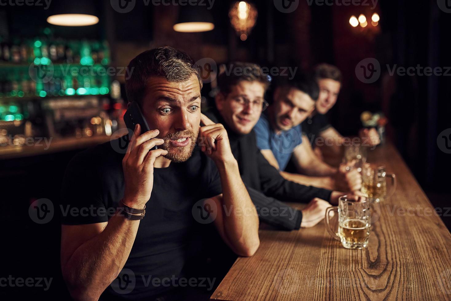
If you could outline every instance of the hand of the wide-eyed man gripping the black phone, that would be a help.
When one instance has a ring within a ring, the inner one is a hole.
[[[164,143],[163,139],[156,138],[158,133],[158,130],[152,130],[141,134],[141,126],[137,124],[122,160],[125,180],[123,202],[132,208],[144,208],[150,199],[153,188],[153,163],[157,157],[167,154],[167,150],[152,150]]]

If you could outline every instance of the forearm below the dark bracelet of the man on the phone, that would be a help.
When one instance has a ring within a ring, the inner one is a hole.
[[[75,250],[62,266],[63,276],[76,300],[97,300],[127,261],[139,220],[111,217],[106,228]]]

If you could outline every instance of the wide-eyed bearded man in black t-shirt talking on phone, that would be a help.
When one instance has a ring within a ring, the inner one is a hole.
[[[208,205],[217,233],[241,256],[259,246],[257,212],[226,130],[200,112],[202,81],[193,60],[160,47],[138,55],[128,71],[128,100],[139,104],[150,131],[137,124],[125,153],[113,140],[69,163],[61,269],[76,300],[186,299],[177,289],[207,226],[197,204]],[[94,210],[71,214],[73,208]]]

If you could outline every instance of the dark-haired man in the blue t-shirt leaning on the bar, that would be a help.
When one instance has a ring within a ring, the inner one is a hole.
[[[327,189],[359,190],[361,177],[356,170],[322,162],[308,147],[308,138],[303,137],[301,123],[312,114],[318,95],[318,84],[304,76],[279,83],[272,105],[254,127],[257,146],[287,180]],[[298,173],[285,172],[290,159]]]

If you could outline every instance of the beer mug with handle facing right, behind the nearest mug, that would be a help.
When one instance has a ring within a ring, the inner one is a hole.
[[[387,178],[391,180],[391,187],[387,192]],[[396,189],[396,176],[393,173],[387,173],[385,166],[376,166],[374,164],[364,164],[362,172],[361,192],[377,202],[384,201],[393,195]]]

